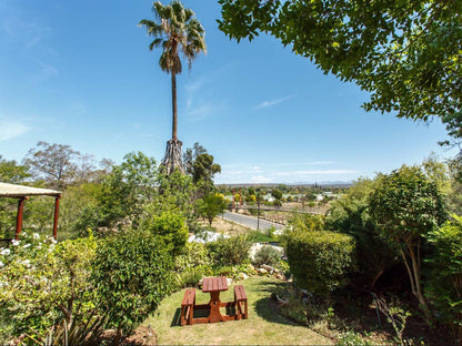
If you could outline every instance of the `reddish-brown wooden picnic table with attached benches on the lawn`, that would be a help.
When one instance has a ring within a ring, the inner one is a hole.
[[[195,304],[195,289],[188,288],[181,303],[181,325],[193,325],[198,323],[215,323],[225,320],[247,319],[248,302],[244,287],[234,286],[234,301],[221,302],[220,292],[228,291],[228,283],[224,276],[205,277],[202,284],[202,292],[210,293],[209,304]],[[235,314],[221,314],[220,307],[234,307]],[[194,317],[194,311],[207,309],[207,317]]]

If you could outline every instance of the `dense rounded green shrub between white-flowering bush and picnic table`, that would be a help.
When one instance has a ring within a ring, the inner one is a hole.
[[[163,240],[149,232],[127,232],[106,238],[93,261],[98,306],[116,327],[118,344],[153,313],[174,287],[173,261]]]

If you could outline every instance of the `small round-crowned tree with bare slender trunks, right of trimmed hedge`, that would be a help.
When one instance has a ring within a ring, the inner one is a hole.
[[[371,215],[408,269],[412,294],[428,313],[421,284],[423,236],[445,218],[442,196],[418,167],[402,166],[380,177],[369,197]]]

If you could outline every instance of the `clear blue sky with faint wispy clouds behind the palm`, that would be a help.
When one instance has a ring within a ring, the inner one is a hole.
[[[164,1],[163,3],[167,3]],[[179,139],[202,144],[215,183],[352,181],[452,156],[430,124],[364,112],[368,94],[324,75],[271,37],[230,41],[215,0],[184,0],[208,54],[178,78]],[[170,77],[141,19],[151,1],[0,0],[0,154],[21,161],[38,141],[121,162],[161,161],[171,136]]]

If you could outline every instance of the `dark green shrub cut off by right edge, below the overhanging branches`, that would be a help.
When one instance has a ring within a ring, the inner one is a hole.
[[[428,235],[434,251],[428,260],[432,275],[426,295],[436,318],[450,326],[454,338],[462,340],[462,217],[453,217]]]

